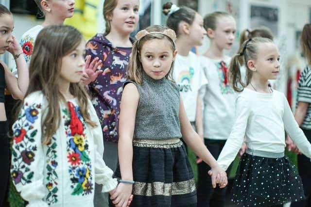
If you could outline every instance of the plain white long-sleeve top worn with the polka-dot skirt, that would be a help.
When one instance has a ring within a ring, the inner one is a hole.
[[[265,94],[245,88],[236,99],[235,123],[217,160],[226,170],[246,137],[248,148],[264,152],[284,152],[285,131],[299,150],[311,157],[311,144],[299,128],[286,97],[273,90]]]

